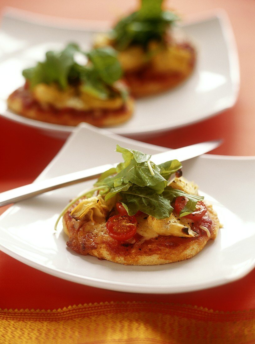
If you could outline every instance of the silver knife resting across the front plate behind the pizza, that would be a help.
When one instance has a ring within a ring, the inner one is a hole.
[[[153,161],[156,165],[173,159],[185,161],[209,152],[218,147],[221,143],[221,140],[206,141],[192,144],[191,146],[172,149],[163,153],[152,155],[151,161]],[[104,171],[115,167],[116,165],[117,164],[101,165],[91,169],[61,175],[59,177],[46,179],[39,182],[36,181],[32,184],[2,192],[0,193],[0,206],[26,200],[27,198],[42,194],[44,192],[59,189],[60,187],[98,178]]]

